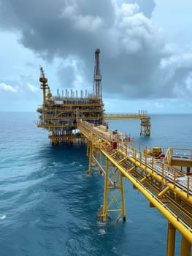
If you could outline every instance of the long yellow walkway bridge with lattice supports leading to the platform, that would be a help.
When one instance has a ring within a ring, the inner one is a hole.
[[[121,117],[122,118],[122,117]],[[106,127],[94,127],[86,121],[77,128],[87,138],[88,173],[95,166],[104,175],[104,203],[99,219],[126,220],[123,180],[127,178],[134,189],[149,200],[168,221],[166,256],[174,256],[175,233],[181,234],[180,256],[191,255],[192,244],[192,151],[174,154],[169,148],[164,158],[157,159],[145,148],[134,148],[131,141],[114,135]],[[179,161],[179,162],[177,162]],[[172,163],[188,168],[184,172]],[[188,174],[188,175],[187,175]]]

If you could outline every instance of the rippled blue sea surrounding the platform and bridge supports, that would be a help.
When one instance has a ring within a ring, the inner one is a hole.
[[[135,143],[192,148],[192,115],[151,116],[151,135],[139,120],[109,121]],[[87,174],[86,146],[52,146],[37,113],[1,112],[1,256],[164,256],[167,220],[125,180],[126,222],[98,221],[104,176]],[[176,233],[175,255],[180,255]]]

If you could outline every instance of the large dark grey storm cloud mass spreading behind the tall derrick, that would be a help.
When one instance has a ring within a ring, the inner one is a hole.
[[[152,0],[0,0],[0,26],[18,31],[20,43],[43,59],[63,59],[61,82],[73,84],[79,75],[92,83],[100,48],[105,95],[173,97],[177,74],[185,84],[191,69],[181,62],[172,72],[164,34],[150,20],[154,8]]]

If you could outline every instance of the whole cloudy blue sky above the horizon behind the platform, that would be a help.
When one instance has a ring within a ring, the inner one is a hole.
[[[192,113],[191,0],[0,0],[0,111],[93,92],[100,49],[106,113]]]

